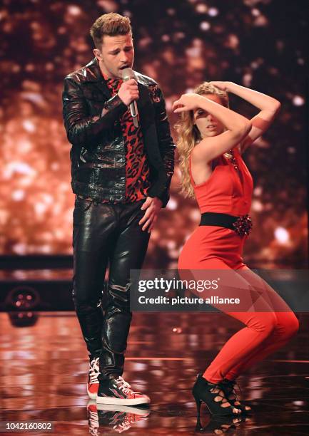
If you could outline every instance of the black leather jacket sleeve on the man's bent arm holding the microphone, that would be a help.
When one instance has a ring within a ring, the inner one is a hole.
[[[73,78],[64,79],[64,92],[62,93],[64,126],[69,142],[73,145],[83,146],[86,149],[95,147],[98,135],[111,128],[127,107],[118,97],[103,103],[100,115],[89,116],[86,99]]]

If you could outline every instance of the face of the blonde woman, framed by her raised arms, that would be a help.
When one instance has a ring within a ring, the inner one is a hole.
[[[213,100],[219,105],[222,105],[221,98],[216,94],[202,94],[203,97]],[[194,110],[193,123],[201,133],[202,139],[204,137],[220,135],[224,131],[224,125],[211,113],[206,112],[201,108]]]

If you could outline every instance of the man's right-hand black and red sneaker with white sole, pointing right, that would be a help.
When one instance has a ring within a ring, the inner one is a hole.
[[[108,378],[100,382],[96,403],[118,405],[148,404],[150,403],[150,398],[140,392],[134,392],[131,389],[131,385],[119,376],[118,378]]]

